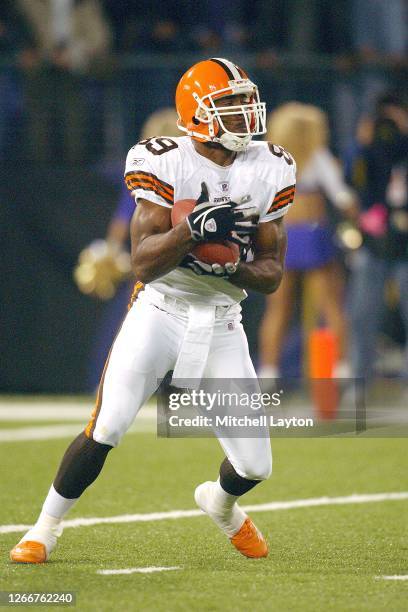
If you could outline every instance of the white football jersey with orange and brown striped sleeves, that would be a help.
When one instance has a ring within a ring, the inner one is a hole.
[[[162,136],[130,149],[125,180],[136,202],[143,198],[166,208],[178,200],[197,199],[204,181],[215,203],[239,202],[249,195],[259,209],[260,223],[265,223],[282,217],[291,206],[295,173],[293,158],[277,145],[251,142],[230,166],[219,166],[197,153],[189,136]],[[226,279],[198,276],[182,267],[149,284],[161,293],[208,304],[234,304],[246,297]]]

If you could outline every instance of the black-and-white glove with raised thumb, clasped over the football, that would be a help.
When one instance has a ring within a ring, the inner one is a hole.
[[[186,218],[193,239],[197,242],[219,241],[234,239],[235,236],[235,242],[246,244],[240,239],[255,231],[259,219],[258,209],[246,203],[214,204],[209,199],[207,185],[201,183],[201,195]]]

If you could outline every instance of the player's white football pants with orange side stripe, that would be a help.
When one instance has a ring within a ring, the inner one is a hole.
[[[241,307],[214,306],[214,311],[204,377],[256,378],[241,324]],[[102,444],[118,445],[140,408],[156,391],[158,380],[174,369],[187,324],[187,302],[150,287],[140,292],[113,343],[94,418],[86,430],[88,436]],[[219,441],[240,476],[250,480],[270,476],[272,454],[265,430],[259,437],[219,437]]]

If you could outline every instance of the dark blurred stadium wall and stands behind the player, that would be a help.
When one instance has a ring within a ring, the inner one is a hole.
[[[406,9],[404,0],[3,0],[0,390],[94,389],[127,287],[112,307],[82,294],[73,270],[106,236],[126,152],[151,114],[173,105],[187,67],[226,56],[248,69],[269,111],[289,101],[324,110],[330,148],[352,183],[361,121],[375,117],[380,94],[406,101]],[[404,180],[406,198],[406,151]],[[335,228],[344,219],[327,204]],[[346,319],[353,257],[336,250]],[[399,374],[398,292],[388,282],[383,289],[377,373]],[[244,312],[257,364],[263,311],[264,299],[250,295]],[[297,307],[281,356],[288,375],[302,372],[304,319]]]

